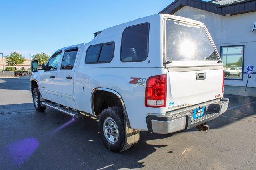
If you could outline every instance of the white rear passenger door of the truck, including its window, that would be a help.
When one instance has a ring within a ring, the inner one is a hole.
[[[60,70],[56,75],[56,95],[59,104],[76,109],[74,102],[74,72],[76,58],[81,45],[68,47],[60,60]]]

